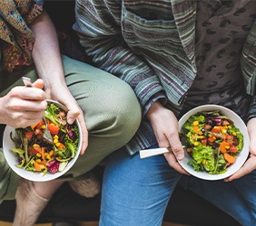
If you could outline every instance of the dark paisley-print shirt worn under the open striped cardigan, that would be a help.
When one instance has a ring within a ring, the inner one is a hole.
[[[240,58],[256,18],[255,10],[256,4],[250,0],[198,1],[195,26],[197,75],[181,115],[190,108],[215,103],[231,108],[247,119],[251,97],[241,86]]]

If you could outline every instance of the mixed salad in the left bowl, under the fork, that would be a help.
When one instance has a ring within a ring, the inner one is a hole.
[[[54,103],[50,103],[44,112],[47,126],[53,137],[53,143],[44,139],[44,121],[25,128],[15,128],[17,137],[13,152],[17,157],[17,167],[44,174],[63,171],[78,148],[79,130],[77,125],[66,122],[66,112]]]

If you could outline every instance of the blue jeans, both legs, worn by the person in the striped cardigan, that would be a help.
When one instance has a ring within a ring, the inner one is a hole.
[[[231,183],[177,173],[163,155],[140,159],[123,151],[105,162],[101,226],[162,225],[174,187],[201,195],[244,226],[256,225],[256,172]]]

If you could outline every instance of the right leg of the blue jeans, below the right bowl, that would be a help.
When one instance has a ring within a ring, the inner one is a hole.
[[[190,176],[185,188],[197,193],[222,211],[229,213],[244,226],[256,225],[256,172],[245,175],[238,180],[226,183],[204,181]]]

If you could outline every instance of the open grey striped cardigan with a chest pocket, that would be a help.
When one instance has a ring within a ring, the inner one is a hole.
[[[143,112],[160,99],[177,115],[197,73],[196,8],[196,1],[188,0],[77,0],[74,30],[98,67],[131,85]],[[255,94],[256,82],[255,35],[254,23],[241,55],[244,85],[250,95]],[[144,118],[126,147],[133,155],[155,144]]]

